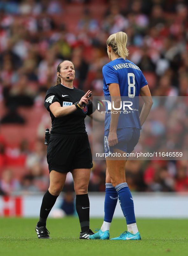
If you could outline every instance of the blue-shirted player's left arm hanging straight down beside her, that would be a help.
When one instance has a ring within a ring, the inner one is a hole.
[[[114,101],[114,107],[116,109],[120,108],[121,96],[120,96],[120,88],[118,83],[110,83],[108,85],[108,88],[111,95],[111,103],[112,103],[112,110],[111,110],[112,113],[111,113],[111,121],[110,121],[110,131],[108,135],[108,143],[109,143],[109,146],[114,146],[118,143],[116,131],[117,131],[117,124],[118,124],[120,112],[115,114],[117,110],[113,109],[113,101]],[[114,114],[113,114],[113,111],[115,111]]]

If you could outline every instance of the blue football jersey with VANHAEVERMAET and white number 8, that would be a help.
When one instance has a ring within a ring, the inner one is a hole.
[[[117,129],[124,127],[135,127],[141,129],[138,112],[139,93],[140,89],[147,85],[148,82],[140,68],[138,68],[133,62],[127,59],[124,60],[120,57],[106,64],[102,68],[102,75],[105,100],[111,101],[108,85],[110,83],[119,84],[122,109],[117,110],[121,111]],[[127,104],[126,102],[131,103]],[[125,107],[123,110],[123,105],[130,105],[130,107]],[[112,110],[109,110],[109,106],[106,103],[105,130],[110,128],[111,111]]]

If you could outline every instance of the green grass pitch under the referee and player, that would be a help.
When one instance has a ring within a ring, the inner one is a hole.
[[[102,219],[91,219],[94,231]],[[141,241],[79,239],[79,220],[75,217],[48,219],[52,239],[38,239],[37,219],[0,218],[0,256],[163,256],[188,255],[188,220],[137,219]],[[113,219],[110,238],[126,229],[125,219]]]

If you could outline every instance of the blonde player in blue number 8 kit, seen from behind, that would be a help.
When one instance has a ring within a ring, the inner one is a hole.
[[[106,99],[111,96],[114,101],[113,110],[121,109],[124,98],[132,103],[132,110],[126,109],[120,114],[106,112],[104,146],[106,158],[106,196],[104,205],[104,222],[101,229],[90,239],[109,239],[109,229],[114,215],[117,199],[120,201],[123,215],[126,218],[128,231],[111,240],[140,240],[140,233],[136,226],[133,198],[126,183],[125,165],[126,153],[131,153],[138,143],[140,129],[145,122],[153,104],[147,81],[142,71],[134,63],[127,60],[127,34],[117,32],[107,39],[107,53],[110,62],[103,69],[103,91]],[[140,117],[138,115],[138,96],[143,97],[144,105]],[[124,97],[123,97],[124,96]],[[108,139],[107,139],[108,138]],[[119,153],[112,157],[110,153]],[[121,159],[121,160],[120,160]],[[123,159],[123,160],[122,160]]]

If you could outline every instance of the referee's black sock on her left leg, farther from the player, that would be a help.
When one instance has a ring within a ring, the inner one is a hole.
[[[41,208],[40,208],[40,218],[39,218],[39,222],[37,223],[38,227],[42,227],[42,226],[46,225],[47,217],[48,217],[52,207],[54,206],[57,198],[58,198],[58,196],[51,195],[48,190],[44,194],[43,199],[42,199]]]

